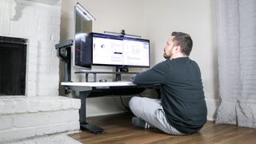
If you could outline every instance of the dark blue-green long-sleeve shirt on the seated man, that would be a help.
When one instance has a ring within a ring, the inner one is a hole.
[[[171,126],[185,134],[206,123],[206,101],[198,64],[188,57],[158,63],[134,77],[138,85],[160,84],[162,107]]]

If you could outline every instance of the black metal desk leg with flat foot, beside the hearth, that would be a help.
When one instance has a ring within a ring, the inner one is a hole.
[[[80,91],[79,92],[79,97],[81,99],[81,108],[79,110],[79,118],[80,118],[80,128],[81,130],[89,130],[90,132],[94,134],[102,134],[103,129],[90,125],[89,123],[86,122],[86,98],[90,94],[90,91]]]

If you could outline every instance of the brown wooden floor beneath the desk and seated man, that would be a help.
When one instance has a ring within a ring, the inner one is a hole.
[[[197,134],[174,136],[160,130],[144,130],[130,123],[129,114],[87,118],[88,122],[104,129],[102,134],[82,131],[70,134],[82,143],[256,143],[256,129],[207,122]]]

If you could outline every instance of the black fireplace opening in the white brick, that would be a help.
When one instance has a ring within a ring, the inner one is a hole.
[[[27,39],[0,36],[0,96],[25,95]]]

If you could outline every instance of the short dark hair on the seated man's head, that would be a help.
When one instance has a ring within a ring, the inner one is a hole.
[[[189,56],[193,46],[193,41],[190,34],[174,31],[171,35],[174,36],[174,44],[181,46],[182,53]]]

